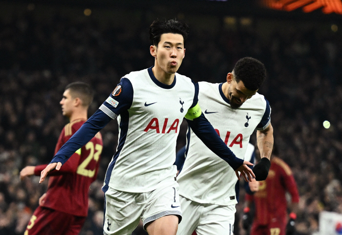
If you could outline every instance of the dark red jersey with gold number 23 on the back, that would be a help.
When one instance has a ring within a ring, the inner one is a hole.
[[[55,154],[84,123],[85,119],[78,119],[63,128]],[[98,132],[85,146],[77,150],[59,171],[49,172],[50,178],[43,207],[77,216],[86,216],[88,191],[98,173],[102,148],[102,136]],[[37,166],[35,175],[40,175],[46,166]]]

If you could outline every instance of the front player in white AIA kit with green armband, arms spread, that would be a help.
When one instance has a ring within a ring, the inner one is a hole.
[[[253,171],[219,138],[198,105],[198,85],[176,73],[185,56],[188,26],[175,20],[150,26],[154,66],[131,72],[107,100],[57,152],[42,171],[59,170],[88,139],[118,119],[119,144],[109,163],[105,192],[105,235],[129,235],[142,218],[149,235],[175,235],[181,221],[176,182],[176,139],[185,117],[201,140],[227,162],[239,178]],[[227,165],[228,167],[228,165]],[[62,202],[61,202],[62,203]]]

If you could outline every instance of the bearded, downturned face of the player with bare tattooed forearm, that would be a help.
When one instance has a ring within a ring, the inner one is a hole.
[[[228,74],[229,75],[229,74]],[[232,76],[232,75],[231,75]],[[227,78],[228,81],[228,78]],[[228,81],[229,83],[229,81]],[[232,108],[238,108],[246,100],[252,98],[256,94],[257,90],[249,90],[245,87],[242,81],[236,83],[236,80],[232,77],[228,88],[229,103]]]

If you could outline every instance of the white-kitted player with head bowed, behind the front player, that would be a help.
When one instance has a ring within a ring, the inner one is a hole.
[[[265,180],[271,166],[273,128],[271,108],[257,92],[266,77],[265,66],[256,59],[239,60],[227,82],[199,82],[198,103],[206,118],[235,156],[243,159],[256,129],[260,163],[256,180]],[[232,235],[238,184],[235,172],[209,150],[189,127],[186,158],[178,174],[183,220],[177,235]],[[264,172],[264,173],[260,173]]]

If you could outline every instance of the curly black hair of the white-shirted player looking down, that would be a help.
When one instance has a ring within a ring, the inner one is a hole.
[[[234,66],[236,83],[242,81],[249,90],[257,90],[266,78],[265,65],[252,57],[238,60]]]

